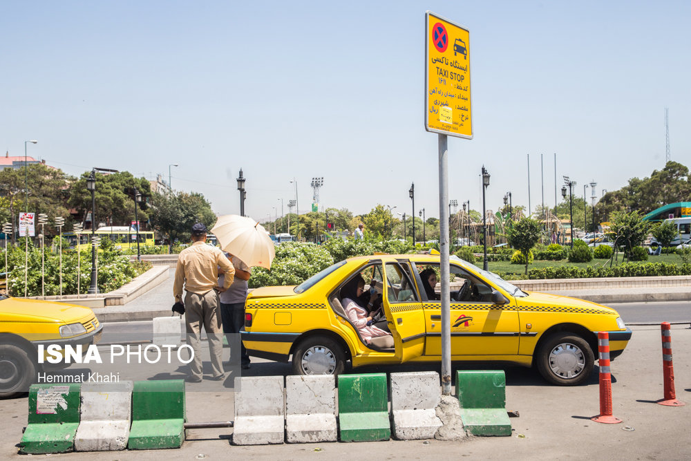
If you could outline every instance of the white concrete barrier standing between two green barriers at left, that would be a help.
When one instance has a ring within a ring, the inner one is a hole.
[[[131,381],[82,384],[81,420],[76,451],[124,450],[129,440]]]

